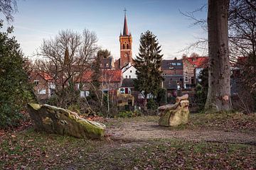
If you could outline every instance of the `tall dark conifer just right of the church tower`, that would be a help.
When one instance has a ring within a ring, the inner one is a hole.
[[[144,98],[148,94],[156,96],[161,88],[161,45],[156,35],[147,30],[140,37],[139,56],[134,60],[134,67],[137,69],[137,79],[134,80],[135,88],[142,92]],[[146,103],[145,103],[146,105]]]

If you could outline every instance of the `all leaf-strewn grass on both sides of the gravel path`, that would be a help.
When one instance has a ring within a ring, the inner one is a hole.
[[[105,124],[110,129],[107,132],[111,132],[112,128],[127,132],[128,125],[157,124],[157,119],[156,116],[115,118],[107,120]],[[186,130],[198,132],[202,129],[219,130],[218,132],[231,130],[250,134],[252,139],[255,139],[253,138],[256,132],[255,120],[255,115],[238,113],[192,114],[188,125],[163,130],[167,135],[172,131],[182,134],[187,132]],[[122,129],[122,126],[127,127]],[[1,169],[256,169],[255,142],[245,142],[245,144],[209,142],[169,136],[135,139],[112,137],[110,134],[104,140],[84,140],[35,132],[32,127],[28,127],[18,132],[8,132],[1,137],[0,167]]]

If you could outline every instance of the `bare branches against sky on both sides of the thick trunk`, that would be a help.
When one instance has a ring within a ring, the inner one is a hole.
[[[204,18],[197,18],[196,13],[206,11],[206,5],[192,12],[181,12],[190,18],[191,26],[200,26],[207,31],[207,21]],[[236,62],[237,57],[255,54],[256,52],[256,1],[254,0],[230,0],[228,14],[228,40],[230,50],[230,61]],[[197,38],[182,51],[194,49],[206,50],[208,48],[207,38]]]

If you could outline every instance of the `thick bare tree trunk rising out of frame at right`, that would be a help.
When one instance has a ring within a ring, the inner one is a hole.
[[[230,111],[229,0],[208,0],[209,78],[205,111]]]

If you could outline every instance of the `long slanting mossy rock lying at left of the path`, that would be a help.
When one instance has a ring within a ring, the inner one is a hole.
[[[28,103],[28,113],[38,131],[101,139],[106,128],[102,123],[85,120],[77,113],[46,104]]]

